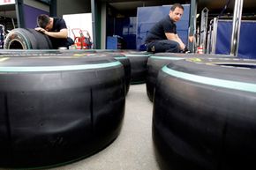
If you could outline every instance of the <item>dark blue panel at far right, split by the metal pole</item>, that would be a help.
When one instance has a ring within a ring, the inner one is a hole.
[[[242,21],[238,57],[256,59],[256,22]],[[232,33],[231,20],[219,20],[217,29],[216,54],[230,54]]]

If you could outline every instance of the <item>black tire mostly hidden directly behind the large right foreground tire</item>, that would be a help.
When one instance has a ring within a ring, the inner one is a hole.
[[[162,69],[164,65],[167,65],[171,61],[184,60],[185,58],[213,58],[213,57],[231,57],[230,55],[199,55],[199,54],[183,54],[183,53],[155,53],[148,58],[147,61],[147,97],[149,100],[154,99],[154,86],[158,71]]]

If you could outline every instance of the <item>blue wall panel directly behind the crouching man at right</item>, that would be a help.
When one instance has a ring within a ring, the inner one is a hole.
[[[145,50],[145,39],[149,29],[164,16],[169,15],[171,5],[139,7],[137,10],[137,36],[136,43],[138,50]],[[184,4],[184,15],[177,22],[177,34],[187,44],[189,27],[190,4]]]

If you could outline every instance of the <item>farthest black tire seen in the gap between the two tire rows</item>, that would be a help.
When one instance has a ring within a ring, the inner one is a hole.
[[[150,54],[130,52],[124,53],[131,63],[131,84],[142,84],[146,81],[147,76],[147,59]]]

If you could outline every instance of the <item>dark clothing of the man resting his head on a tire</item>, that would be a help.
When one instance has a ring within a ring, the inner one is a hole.
[[[63,18],[53,18],[53,27],[50,32],[59,32],[60,30],[67,28],[65,21]],[[67,39],[57,39],[53,37],[49,37],[53,48],[57,49],[59,47],[67,47]]]

